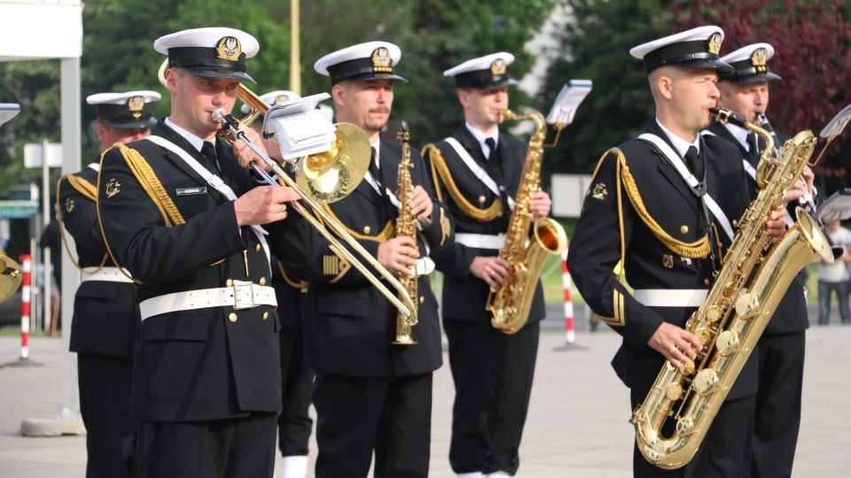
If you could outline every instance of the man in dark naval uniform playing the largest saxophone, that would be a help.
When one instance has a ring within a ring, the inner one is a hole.
[[[732,71],[718,57],[722,39],[721,28],[698,27],[630,50],[644,60],[656,118],[644,135],[601,158],[571,241],[569,266],[582,297],[623,336],[612,365],[630,389],[630,410],[666,360],[679,366],[702,347],[685,321],[707,297],[732,221],[749,200],[738,150],[699,135],[719,95],[716,72]],[[773,236],[785,229],[780,217],[767,220]],[[632,293],[613,272],[618,262]],[[635,447],[634,474],[749,474],[755,365],[746,363],[688,465],[663,470]]]

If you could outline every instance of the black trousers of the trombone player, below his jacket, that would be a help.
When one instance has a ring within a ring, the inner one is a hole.
[[[142,478],[271,478],[275,471],[276,413],[138,423]]]

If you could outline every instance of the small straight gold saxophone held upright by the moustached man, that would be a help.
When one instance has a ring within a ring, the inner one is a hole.
[[[407,235],[417,240],[417,218],[410,212],[410,195],[414,191],[414,183],[410,180],[410,170],[414,165],[410,161],[410,132],[408,125],[402,122],[402,131],[396,134],[396,139],[402,142],[402,161],[396,170],[396,184],[399,190],[396,192],[399,198],[399,215],[396,217],[396,236]],[[408,293],[408,297],[418,297],[417,274],[398,274],[399,281]],[[401,294],[401,293],[400,293]],[[416,307],[410,311],[410,317],[405,317],[402,312],[396,313],[396,336],[394,345],[412,345],[417,343],[411,335],[411,326],[417,325],[418,310]]]

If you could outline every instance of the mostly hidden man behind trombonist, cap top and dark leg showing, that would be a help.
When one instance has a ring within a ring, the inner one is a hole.
[[[269,91],[260,99],[269,105],[281,104],[299,99],[298,93],[287,89]],[[240,112],[248,114],[251,108],[247,104]],[[262,115],[252,124],[254,130],[261,132]],[[273,149],[274,147],[274,149]],[[275,157],[277,145],[267,146],[269,154]],[[271,258],[272,287],[275,288],[277,308],[286,313],[278,314],[281,320],[281,385],[283,411],[277,417],[277,448],[281,451],[277,478],[304,478],[308,473],[308,441],[313,429],[313,420],[308,414],[310,392],[313,389],[314,373],[307,366],[304,357],[303,336],[301,334],[304,319],[304,298],[308,292],[308,281],[296,277],[293,271],[285,271],[281,261]]]

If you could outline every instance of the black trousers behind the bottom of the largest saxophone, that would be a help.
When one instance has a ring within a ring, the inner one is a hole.
[[[646,390],[630,392],[632,409],[644,401]],[[709,426],[707,436],[694,458],[682,468],[664,470],[652,465],[633,447],[632,471],[636,478],[744,478],[750,469],[753,408],[756,397],[742,397],[724,402]],[[666,428],[663,436],[667,436]]]

